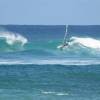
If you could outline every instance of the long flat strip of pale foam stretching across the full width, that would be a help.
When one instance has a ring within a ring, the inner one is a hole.
[[[100,59],[98,60],[0,60],[0,65],[98,65],[100,64]]]

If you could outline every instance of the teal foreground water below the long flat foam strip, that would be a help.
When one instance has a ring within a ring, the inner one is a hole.
[[[0,100],[99,100],[100,65],[2,65]]]

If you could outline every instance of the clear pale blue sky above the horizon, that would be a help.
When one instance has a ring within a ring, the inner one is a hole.
[[[0,0],[0,24],[99,25],[100,0]]]

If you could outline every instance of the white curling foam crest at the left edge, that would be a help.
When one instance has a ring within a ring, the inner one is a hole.
[[[9,45],[13,45],[16,42],[21,43],[22,45],[24,45],[28,41],[22,35],[17,34],[17,33],[14,34],[14,33],[11,33],[11,32],[1,32],[0,33],[0,38],[6,39],[6,43],[8,43]]]

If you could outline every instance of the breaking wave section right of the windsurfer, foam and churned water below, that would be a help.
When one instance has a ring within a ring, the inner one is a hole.
[[[73,57],[100,57],[100,40],[90,37],[71,37],[63,52]]]

